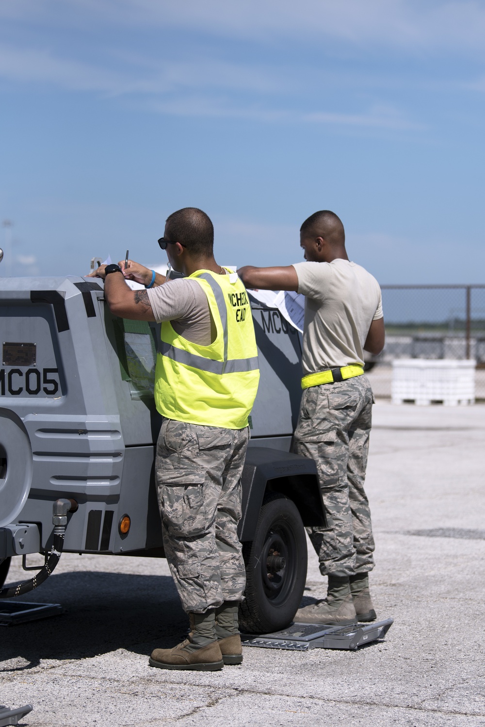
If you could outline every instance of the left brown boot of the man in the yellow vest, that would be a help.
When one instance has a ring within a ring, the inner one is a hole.
[[[224,667],[213,609],[205,614],[189,614],[189,621],[189,637],[174,648],[155,648],[148,659],[150,666],[197,672],[215,672]]]

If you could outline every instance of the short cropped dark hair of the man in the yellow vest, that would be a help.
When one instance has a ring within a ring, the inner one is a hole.
[[[197,207],[184,207],[172,212],[166,220],[166,236],[179,242],[195,255],[211,255],[214,244],[213,224]]]

